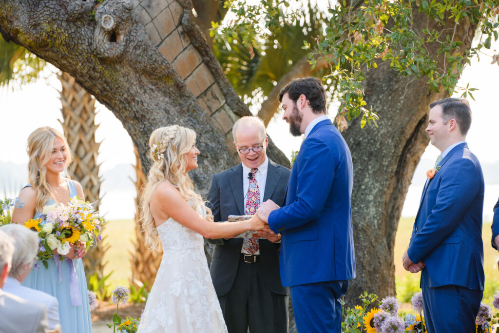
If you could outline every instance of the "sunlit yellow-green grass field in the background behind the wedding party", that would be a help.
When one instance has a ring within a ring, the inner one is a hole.
[[[402,303],[408,303],[414,293],[420,291],[420,274],[412,274],[402,267],[402,255],[409,244],[412,233],[414,218],[401,218],[395,238],[395,289],[397,298]],[[117,285],[128,286],[131,278],[130,252],[133,253],[132,242],[135,241],[134,220],[111,220],[106,224],[103,231],[104,242],[109,244],[109,250],[104,256],[104,274],[111,272],[109,284],[112,288]],[[491,222],[484,223],[484,268],[485,268],[485,292],[484,302],[492,305],[492,296],[499,290],[498,260],[499,253],[491,246]],[[130,252],[129,252],[130,251]]]

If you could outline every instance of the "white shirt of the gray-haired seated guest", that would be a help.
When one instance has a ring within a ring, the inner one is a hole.
[[[43,304],[47,309],[48,328],[53,329],[55,325],[60,325],[59,302],[52,295],[21,286],[19,281],[11,277],[7,277],[2,290],[26,301]]]

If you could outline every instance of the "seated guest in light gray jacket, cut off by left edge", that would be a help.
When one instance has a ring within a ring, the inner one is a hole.
[[[13,252],[11,238],[0,230],[0,332],[45,333],[47,330],[45,307],[1,289],[10,269]],[[5,318],[8,320],[4,320]]]

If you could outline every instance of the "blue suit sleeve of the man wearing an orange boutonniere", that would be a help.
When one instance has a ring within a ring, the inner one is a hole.
[[[435,205],[409,243],[407,254],[413,263],[424,260],[457,228],[479,191],[480,175],[472,160],[449,162],[452,164],[442,173]]]

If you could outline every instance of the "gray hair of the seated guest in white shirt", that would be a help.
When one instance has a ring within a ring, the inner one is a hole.
[[[16,223],[1,226],[0,231],[11,237],[14,253],[8,276],[17,279],[33,265],[38,252],[38,234]],[[26,264],[29,265],[26,266]]]

